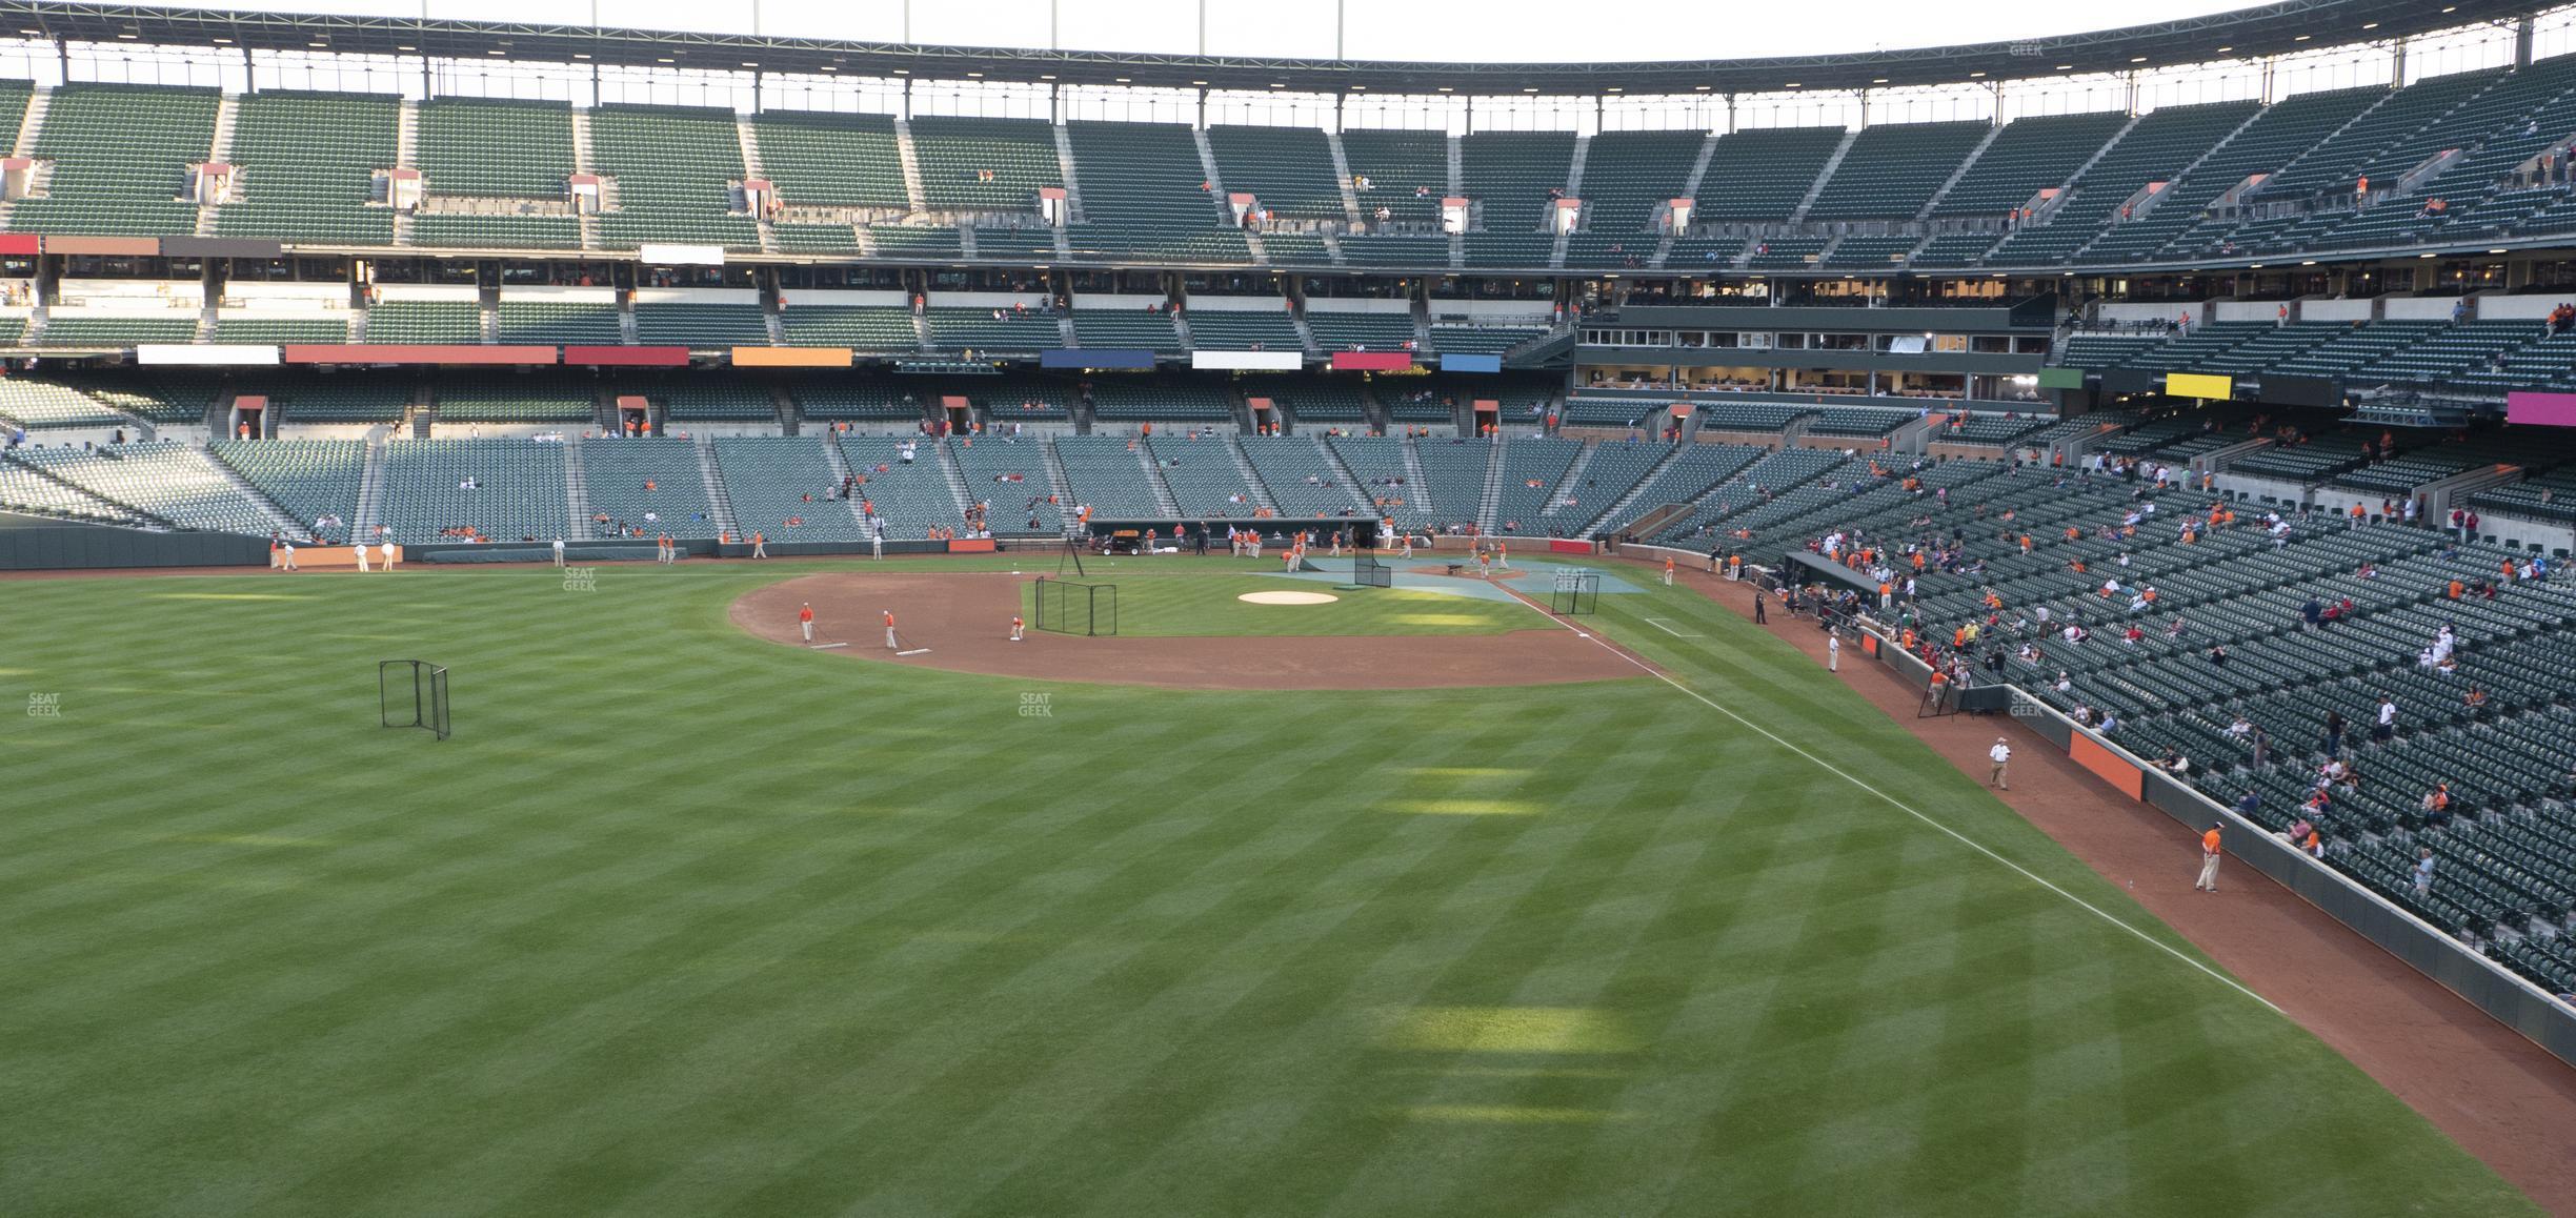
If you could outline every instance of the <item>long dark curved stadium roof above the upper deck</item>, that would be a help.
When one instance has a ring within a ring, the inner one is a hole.
[[[515,59],[714,72],[796,72],[1054,85],[1216,88],[1298,93],[1780,93],[2025,80],[2130,72],[2213,59],[2262,59],[2339,44],[2406,39],[2550,8],[2535,0],[2280,0],[2197,18],[2092,33],[1901,52],[1770,59],[1468,64],[1262,59],[1139,52],[1041,52],[775,39],[752,33],[520,26],[307,13],[237,13],[142,5],[0,0],[0,36],[337,52],[435,59]],[[1826,5],[1829,13],[1829,5]]]

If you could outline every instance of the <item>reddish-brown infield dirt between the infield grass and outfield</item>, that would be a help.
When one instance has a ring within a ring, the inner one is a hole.
[[[1188,579],[1188,577],[1180,577]],[[1427,690],[1468,685],[1564,685],[1643,677],[1625,651],[1569,631],[1530,610],[1528,631],[1502,633],[1224,633],[1087,639],[1025,631],[1010,641],[1028,579],[999,572],[878,574],[832,572],[781,579],[734,600],[729,618],[773,644],[804,649],[796,608],[814,605],[819,641],[853,646],[811,651],[819,664],[860,659],[891,667],[935,667],[994,677],[1167,685],[1180,690]],[[1139,582],[1141,585],[1141,582]],[[1316,597],[1329,592],[1262,590],[1255,595]],[[894,610],[907,646],[884,646],[881,610]]]

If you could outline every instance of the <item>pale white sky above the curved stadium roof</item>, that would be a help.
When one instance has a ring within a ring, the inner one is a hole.
[[[149,3],[149,0],[144,0]],[[1056,46],[1193,54],[1206,3],[1206,52],[1334,57],[1332,0],[1054,0]],[[2130,0],[2032,5],[2027,0],[1641,0],[1610,21],[1564,21],[1571,3],[1345,0],[1340,57],[1458,62],[1749,59],[2038,39],[2251,8],[2249,0]],[[448,21],[595,21],[621,28],[786,33],[902,41],[907,0],[296,0],[185,8],[422,15]],[[1051,0],[909,0],[912,41],[1048,46]]]

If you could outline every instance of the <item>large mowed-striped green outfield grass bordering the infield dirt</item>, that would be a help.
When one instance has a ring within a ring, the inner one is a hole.
[[[1597,626],[2156,942],[1662,682],[726,626],[801,569],[5,585],[0,1213],[2530,1210],[1687,592]]]

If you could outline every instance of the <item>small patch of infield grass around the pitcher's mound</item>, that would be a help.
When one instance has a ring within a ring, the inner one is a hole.
[[[1151,564],[1149,564],[1151,567]],[[1182,564],[1159,572],[1100,572],[1087,582],[1118,587],[1118,633],[1146,636],[1347,636],[1347,633],[1504,633],[1548,621],[1517,600],[1484,600],[1409,587],[1340,590],[1321,579],[1275,574],[1190,574]],[[1247,605],[1244,592],[1324,592],[1332,605]],[[1036,587],[1020,592],[1023,605]],[[1030,610],[1033,613],[1033,610]]]

